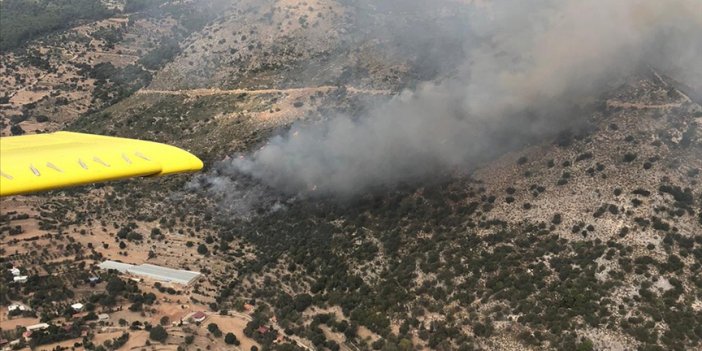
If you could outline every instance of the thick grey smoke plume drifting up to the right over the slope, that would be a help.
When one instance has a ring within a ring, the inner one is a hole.
[[[702,72],[700,0],[472,7],[465,25],[481,39],[460,48],[466,58],[453,78],[404,91],[361,118],[295,124],[225,169],[286,192],[354,195],[470,168],[555,133],[581,119],[574,106],[642,66]]]

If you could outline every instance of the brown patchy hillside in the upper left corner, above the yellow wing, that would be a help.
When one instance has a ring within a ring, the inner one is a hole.
[[[62,129],[81,115],[128,97],[179,52],[180,41],[214,18],[212,2],[174,3],[155,10],[161,3],[118,2],[112,6],[123,9],[110,10],[103,16],[107,18],[66,19],[3,53],[2,135]],[[55,6],[60,12],[61,5]],[[72,6],[81,5],[66,3],[68,9]]]

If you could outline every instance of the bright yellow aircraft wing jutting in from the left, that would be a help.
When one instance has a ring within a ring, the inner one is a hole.
[[[0,196],[200,169],[189,152],[150,141],[72,132],[0,138]]]

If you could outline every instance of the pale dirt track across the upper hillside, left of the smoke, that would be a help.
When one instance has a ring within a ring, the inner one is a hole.
[[[345,87],[346,91],[352,94],[369,94],[369,95],[390,95],[392,92],[390,90],[378,90],[378,89],[359,89],[354,87]],[[141,89],[137,91],[137,94],[147,95],[147,94],[162,94],[162,95],[186,95],[189,97],[199,97],[199,96],[210,96],[210,95],[237,95],[237,94],[252,94],[252,95],[263,95],[263,94],[288,94],[288,93],[315,93],[318,91],[329,92],[337,90],[339,87],[325,85],[319,87],[305,87],[305,88],[289,88],[289,89],[219,89],[219,88],[201,88],[201,89],[187,89],[187,90],[152,90],[152,89]]]

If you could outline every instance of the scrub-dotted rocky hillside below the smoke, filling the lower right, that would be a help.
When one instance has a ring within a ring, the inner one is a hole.
[[[691,348],[701,115],[651,74],[603,101],[584,134],[419,189],[224,218],[220,238],[255,244],[257,259],[234,266],[251,298],[277,295],[279,311],[311,293],[386,347],[572,349],[586,337],[596,349]]]

